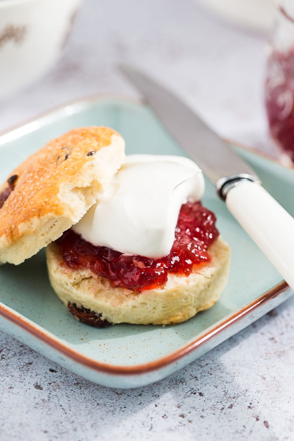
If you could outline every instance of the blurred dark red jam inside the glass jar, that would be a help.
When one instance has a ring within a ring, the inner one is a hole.
[[[294,48],[270,55],[266,107],[271,135],[294,162]]]

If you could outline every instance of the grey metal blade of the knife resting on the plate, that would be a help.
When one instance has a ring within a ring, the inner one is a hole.
[[[219,182],[217,187],[229,176],[259,181],[252,168],[179,98],[131,66],[123,65],[121,69],[207,177],[215,184]]]

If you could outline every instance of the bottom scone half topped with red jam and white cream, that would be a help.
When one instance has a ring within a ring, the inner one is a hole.
[[[175,324],[213,306],[230,248],[203,192],[187,158],[127,156],[106,194],[47,247],[50,283],[73,316],[97,327]]]

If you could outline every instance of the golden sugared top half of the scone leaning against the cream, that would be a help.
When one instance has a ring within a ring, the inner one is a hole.
[[[123,138],[107,127],[73,129],[27,158],[0,187],[12,190],[0,208],[0,263],[18,265],[61,236],[123,161]]]

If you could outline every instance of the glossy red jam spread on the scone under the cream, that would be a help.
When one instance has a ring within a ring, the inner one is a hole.
[[[72,230],[63,233],[57,243],[68,267],[90,268],[109,279],[113,287],[140,293],[165,285],[169,272],[189,275],[195,265],[210,262],[207,249],[219,236],[215,222],[215,215],[201,202],[182,205],[171,252],[156,260],[92,245]]]

